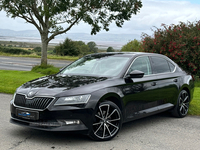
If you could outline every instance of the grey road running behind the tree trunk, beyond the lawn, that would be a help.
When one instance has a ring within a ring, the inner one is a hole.
[[[0,56],[0,70],[30,71],[33,66],[40,64],[40,61],[40,58]],[[48,63],[62,68],[71,63],[71,61],[49,59]]]

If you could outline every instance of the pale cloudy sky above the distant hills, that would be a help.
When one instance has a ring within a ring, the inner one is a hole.
[[[142,0],[143,7],[137,15],[133,15],[126,21],[122,28],[110,25],[110,34],[153,34],[154,27],[161,27],[161,24],[171,25],[179,22],[195,22],[200,20],[200,0]],[[12,19],[6,13],[0,12],[0,29],[36,30],[36,28],[23,19]],[[91,27],[80,23],[74,26],[70,33],[90,33]]]

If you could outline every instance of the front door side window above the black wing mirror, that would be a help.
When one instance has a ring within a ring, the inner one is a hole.
[[[128,73],[130,73],[130,72],[132,72],[134,70],[142,71],[142,72],[144,72],[144,75],[152,74],[149,57],[144,56],[144,57],[136,58],[134,60],[133,64],[131,65]]]

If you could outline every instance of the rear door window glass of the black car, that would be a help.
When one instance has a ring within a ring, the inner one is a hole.
[[[165,73],[165,72],[171,72],[169,68],[169,64],[166,59],[161,57],[151,57],[152,65],[153,65],[153,72],[155,74],[157,73]]]

